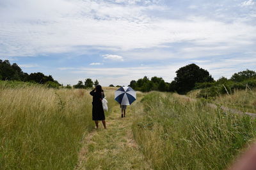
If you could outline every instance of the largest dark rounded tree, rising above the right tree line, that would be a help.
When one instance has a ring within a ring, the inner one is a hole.
[[[174,78],[175,90],[180,94],[186,94],[186,92],[192,90],[195,83],[214,81],[207,70],[198,67],[196,64],[180,67],[176,73],[177,76]]]

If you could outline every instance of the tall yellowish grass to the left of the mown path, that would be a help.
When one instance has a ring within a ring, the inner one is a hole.
[[[73,169],[93,127],[88,90],[1,86],[0,169]]]

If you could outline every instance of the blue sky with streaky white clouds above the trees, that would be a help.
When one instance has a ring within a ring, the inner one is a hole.
[[[0,0],[0,59],[63,85],[256,71],[256,0]]]

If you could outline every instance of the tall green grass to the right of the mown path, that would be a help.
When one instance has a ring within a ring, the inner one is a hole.
[[[255,120],[202,101],[152,92],[141,102],[133,134],[154,169],[223,169],[255,138]]]

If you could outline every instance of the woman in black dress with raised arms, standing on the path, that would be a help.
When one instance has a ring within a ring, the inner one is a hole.
[[[106,129],[105,115],[102,107],[102,99],[105,97],[104,92],[100,85],[97,85],[95,89],[90,92],[90,95],[93,96],[92,99],[92,120],[95,121],[96,128],[98,129],[99,120],[102,120],[102,124]]]

